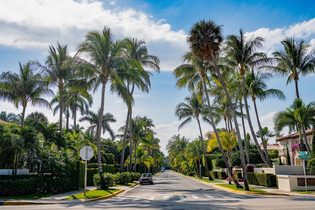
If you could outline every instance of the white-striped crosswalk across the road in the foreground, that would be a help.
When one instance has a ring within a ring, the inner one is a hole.
[[[176,194],[168,195],[144,195],[144,196],[118,196],[111,199],[112,202],[137,202],[137,201],[154,201],[154,200],[185,200],[185,199],[246,199],[252,197],[264,197],[264,195],[247,195],[247,194]]]

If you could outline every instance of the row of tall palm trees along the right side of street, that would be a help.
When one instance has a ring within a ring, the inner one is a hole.
[[[288,76],[287,84],[294,80],[298,98],[298,76],[313,73],[315,65],[315,51],[313,49],[308,52],[310,45],[305,44],[304,41],[297,43],[294,38],[285,38],[281,42],[284,50],[275,51],[272,58],[258,51],[263,46],[263,42],[262,37],[246,37],[242,29],[239,35],[229,35],[224,39],[221,26],[211,20],[202,20],[192,26],[187,37],[190,51],[184,54],[183,59],[188,63],[178,66],[173,71],[173,75],[177,78],[176,87],[187,88],[192,92],[192,95],[185,99],[188,103],[180,103],[176,108],[176,115],[180,119],[185,118],[179,128],[190,122],[190,117],[194,117],[198,121],[200,136],[202,136],[199,116],[209,122],[223,160],[229,173],[232,174],[216,128],[217,123],[224,119],[226,129],[235,130],[237,135],[242,168],[245,172],[243,178],[246,190],[249,190],[249,186],[238,117],[242,119],[244,139],[247,139],[244,121],[246,118],[262,160],[272,167],[263,135],[259,135],[262,138],[263,151],[257,141],[247,98],[251,97],[253,100],[259,133],[263,133],[256,99],[261,101],[268,98],[285,100],[285,96],[280,90],[267,89],[266,82],[273,75]],[[263,70],[265,72],[262,72]],[[214,97],[213,105],[210,103],[210,96]],[[244,106],[246,114],[243,113]],[[232,122],[234,122],[234,126]],[[201,142],[205,156],[202,137]],[[247,163],[250,163],[246,145],[246,159]],[[207,166],[206,159],[205,166]],[[210,179],[209,173],[208,176]],[[242,187],[233,175],[232,179],[237,187]]]

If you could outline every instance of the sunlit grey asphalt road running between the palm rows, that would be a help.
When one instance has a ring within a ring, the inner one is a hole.
[[[137,185],[107,200],[24,206],[0,209],[315,209],[315,197],[238,194],[224,191],[166,170],[153,184]]]

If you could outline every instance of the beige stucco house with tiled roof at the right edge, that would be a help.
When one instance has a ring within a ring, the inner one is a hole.
[[[312,142],[312,129],[305,130],[306,132],[306,138],[307,143],[309,147],[311,148],[311,142]],[[290,158],[291,165],[302,165],[300,159],[298,159],[298,151],[291,151],[291,148],[293,145],[299,143],[299,133],[291,133],[286,136],[281,136],[276,139],[276,142],[280,145],[279,148],[279,156],[281,158],[281,162],[285,165],[288,164],[288,158]],[[288,157],[289,156],[289,157]]]

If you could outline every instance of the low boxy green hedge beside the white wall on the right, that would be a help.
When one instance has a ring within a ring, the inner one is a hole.
[[[277,186],[277,176],[273,174],[248,172],[247,178],[249,184],[261,185],[266,187]]]

